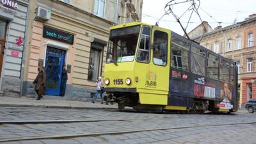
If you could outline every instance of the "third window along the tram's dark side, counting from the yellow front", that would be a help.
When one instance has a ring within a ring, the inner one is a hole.
[[[206,75],[209,78],[218,80],[219,59],[217,56],[208,54]]]

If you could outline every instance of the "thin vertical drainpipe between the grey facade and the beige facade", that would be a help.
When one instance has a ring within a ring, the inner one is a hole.
[[[24,33],[24,42],[23,42],[23,51],[22,51],[22,60],[21,60],[21,70],[20,70],[20,97],[22,96],[23,93],[23,81],[24,81],[24,68],[25,68],[25,63],[26,63],[26,42],[27,38],[26,36],[28,35],[28,22],[29,22],[29,8],[30,8],[30,3],[28,4],[28,9],[27,9],[27,18],[26,18],[26,29]]]

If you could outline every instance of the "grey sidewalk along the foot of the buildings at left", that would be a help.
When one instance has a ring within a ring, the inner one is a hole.
[[[0,107],[40,107],[40,108],[80,108],[80,109],[117,109],[117,104],[106,105],[96,102],[72,101],[52,96],[41,100],[28,97],[0,97]]]

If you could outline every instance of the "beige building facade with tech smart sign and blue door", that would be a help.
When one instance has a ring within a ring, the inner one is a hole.
[[[65,97],[90,100],[97,77],[104,76],[109,28],[141,20],[142,4],[142,0],[30,1],[22,95],[36,96],[32,81],[42,65],[46,95],[60,96],[61,70],[67,65]]]

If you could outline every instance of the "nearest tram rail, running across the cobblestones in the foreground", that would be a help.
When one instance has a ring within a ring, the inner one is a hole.
[[[130,131],[114,131],[114,132],[93,132],[93,133],[80,133],[80,134],[52,134],[49,136],[27,136],[18,138],[2,138],[0,142],[12,142],[12,141],[28,141],[28,140],[46,140],[46,139],[68,139],[78,137],[89,137],[89,136],[102,136],[102,135],[117,135],[117,134],[128,134],[132,132],[146,132],[146,131],[164,131],[169,129],[188,129],[188,128],[199,128],[199,127],[216,127],[223,125],[245,125],[245,124],[256,124],[256,122],[238,122],[228,124],[205,124],[205,125],[191,125],[191,126],[179,126],[179,127],[159,127],[154,129],[135,129]]]

